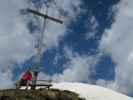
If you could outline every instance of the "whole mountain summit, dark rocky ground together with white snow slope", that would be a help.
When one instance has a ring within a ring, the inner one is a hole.
[[[50,90],[37,88],[1,90],[0,100],[133,100],[113,90],[84,83],[53,83]]]

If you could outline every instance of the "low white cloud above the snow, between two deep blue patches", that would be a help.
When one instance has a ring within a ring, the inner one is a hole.
[[[65,56],[69,59],[69,61],[63,65],[65,69],[62,73],[54,74],[53,80],[57,82],[88,82],[92,69],[97,62],[96,57],[79,55],[77,52],[74,52],[68,47],[66,47],[64,51]]]

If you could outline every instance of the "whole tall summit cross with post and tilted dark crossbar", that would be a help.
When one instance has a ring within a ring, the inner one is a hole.
[[[49,19],[49,20],[52,20],[52,21],[54,21],[56,23],[60,23],[60,24],[62,24],[63,21],[56,19],[54,17],[48,16],[47,15],[48,10],[46,10],[46,14],[42,14],[42,13],[32,10],[32,9],[27,9],[27,12],[43,18],[43,27],[42,27],[42,30],[41,30],[41,33],[40,33],[39,39],[38,39],[38,48],[37,48],[37,55],[36,55],[37,58],[35,58],[37,60],[36,63],[38,63],[38,65],[41,65],[41,57],[43,55],[43,37],[44,37],[45,28],[46,28],[46,20]],[[38,66],[38,67],[40,67],[40,66]],[[34,69],[34,71],[33,71],[34,78],[32,81],[33,86],[31,87],[32,89],[35,89],[35,84],[37,81],[38,73],[39,73],[39,70]]]

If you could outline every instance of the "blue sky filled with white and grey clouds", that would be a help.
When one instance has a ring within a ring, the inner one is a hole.
[[[34,67],[46,21],[40,79],[97,84],[133,96],[133,0],[1,0],[0,88]]]

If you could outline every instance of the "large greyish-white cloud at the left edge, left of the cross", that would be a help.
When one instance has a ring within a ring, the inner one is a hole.
[[[0,1],[0,88],[13,86],[12,67],[9,65],[5,69],[7,63],[11,60],[22,62],[33,52],[33,37],[19,13],[25,7],[27,5],[22,0]]]

